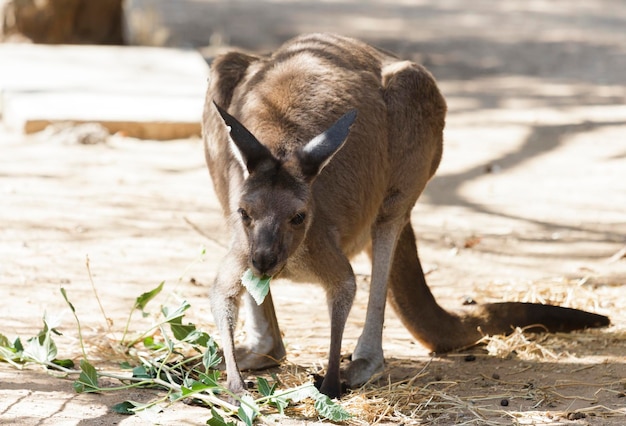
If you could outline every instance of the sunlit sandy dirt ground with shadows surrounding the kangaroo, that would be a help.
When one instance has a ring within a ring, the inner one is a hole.
[[[194,5],[201,3],[213,4]],[[388,368],[381,382],[357,395],[382,393],[387,378],[414,378],[416,390],[437,389],[437,407],[449,405],[437,411],[414,404],[405,423],[624,424],[626,4],[254,4],[265,8],[236,2],[216,10],[237,12],[241,22],[246,13],[267,21],[259,25],[258,44],[250,41],[254,26],[244,26],[246,42],[240,26],[224,25],[220,40],[265,49],[300,31],[340,31],[418,60],[438,78],[449,104],[444,161],[413,222],[441,304],[458,308],[467,297],[545,301],[611,317],[602,330],[539,337],[546,351],[536,359],[484,349],[433,358],[389,311]],[[207,20],[218,19],[217,12]],[[29,337],[44,312],[63,313],[60,356],[78,359],[63,287],[97,359],[106,324],[86,256],[114,328],[123,328],[138,295],[165,280],[155,306],[183,295],[192,305],[188,318],[213,332],[207,283],[227,235],[201,141],[111,136],[83,145],[71,136],[52,129],[28,137],[0,133],[0,333]],[[201,247],[207,253],[196,262]],[[367,297],[364,259],[355,260],[355,270],[360,288],[345,353],[358,338]],[[315,285],[272,285],[288,362],[318,369],[328,345],[322,292]],[[133,325],[144,324],[137,318]],[[468,361],[468,353],[475,360]],[[153,417],[110,411],[114,403],[147,401],[155,393],[76,394],[70,380],[0,363],[1,424],[196,425],[209,418],[206,409],[183,404]],[[359,416],[351,422],[373,422]],[[374,420],[391,424],[394,418],[392,408]]]

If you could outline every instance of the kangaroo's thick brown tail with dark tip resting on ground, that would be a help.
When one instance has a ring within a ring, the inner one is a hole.
[[[609,325],[604,315],[537,303],[475,305],[460,314],[444,310],[426,284],[410,223],[398,241],[388,299],[411,334],[435,352],[471,346],[484,334],[509,333],[514,327],[572,331]]]

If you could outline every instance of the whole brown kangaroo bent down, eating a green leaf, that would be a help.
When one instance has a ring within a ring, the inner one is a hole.
[[[341,392],[341,341],[356,284],[350,258],[372,261],[366,321],[342,374],[365,383],[384,366],[389,301],[412,335],[437,353],[476,344],[483,333],[537,324],[567,331],[607,317],[529,303],[441,308],[420,265],[411,210],[442,156],[446,103],[432,75],[363,42],[330,34],[295,38],[268,57],[230,52],[211,67],[203,139],[231,241],[210,305],[222,340],[227,386],[240,369],[285,356],[271,291],[257,305],[244,290],[261,276],[319,282],[330,314],[321,392]],[[233,333],[243,300],[247,342]]]

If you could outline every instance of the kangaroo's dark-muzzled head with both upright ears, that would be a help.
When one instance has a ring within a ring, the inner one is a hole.
[[[304,241],[313,219],[311,185],[343,146],[356,110],[278,159],[243,124],[216,107],[248,172],[238,209],[248,240],[248,266],[257,276],[273,276]]]

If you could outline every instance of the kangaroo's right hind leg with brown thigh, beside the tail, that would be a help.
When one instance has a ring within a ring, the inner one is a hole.
[[[390,271],[398,239],[410,227],[411,210],[441,158],[446,105],[432,76],[409,62],[382,70],[387,108],[387,194],[372,227],[372,282],[363,333],[348,367],[351,386],[383,368],[382,330]]]

